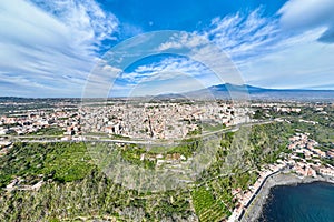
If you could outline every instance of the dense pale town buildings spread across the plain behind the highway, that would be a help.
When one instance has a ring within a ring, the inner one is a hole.
[[[0,117],[0,135],[38,134],[57,128],[63,139],[99,133],[134,139],[180,139],[205,127],[235,125],[249,121],[248,110],[230,102],[94,103],[11,112]],[[217,128],[218,129],[218,128]]]

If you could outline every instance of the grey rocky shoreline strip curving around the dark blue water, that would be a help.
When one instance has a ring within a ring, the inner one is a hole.
[[[252,201],[247,210],[245,211],[242,222],[256,221],[266,203],[271,189],[277,185],[297,185],[299,183],[312,183],[312,182],[327,182],[334,184],[334,179],[328,176],[316,176],[316,178],[299,178],[293,172],[281,172],[269,176],[256,198]]]

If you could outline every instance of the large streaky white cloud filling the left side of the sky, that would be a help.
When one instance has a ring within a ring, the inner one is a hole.
[[[97,61],[96,50],[112,38],[118,21],[92,0],[35,3],[0,3],[0,67],[10,73],[0,73],[1,80],[27,89],[17,95],[80,95]]]

